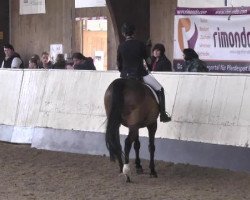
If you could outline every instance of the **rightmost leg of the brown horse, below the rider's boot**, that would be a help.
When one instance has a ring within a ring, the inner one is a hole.
[[[157,130],[157,121],[153,124],[150,124],[147,126],[148,133],[149,133],[149,153],[150,153],[150,176],[151,177],[157,177],[157,173],[155,171],[155,163],[154,163],[154,155],[155,155],[155,132]]]

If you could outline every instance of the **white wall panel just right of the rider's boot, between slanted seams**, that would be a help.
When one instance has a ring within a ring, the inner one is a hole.
[[[216,76],[185,75],[180,78],[174,105],[174,120],[208,123]]]

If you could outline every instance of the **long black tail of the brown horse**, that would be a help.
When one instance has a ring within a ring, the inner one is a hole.
[[[113,82],[111,109],[107,116],[107,128],[106,128],[106,146],[110,153],[110,160],[115,161],[116,158],[121,158],[122,147],[120,143],[119,128],[122,121],[122,107],[124,105],[124,81],[118,79]]]

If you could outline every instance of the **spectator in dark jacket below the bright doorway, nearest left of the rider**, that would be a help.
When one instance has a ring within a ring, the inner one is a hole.
[[[85,57],[81,53],[74,53],[72,56],[74,69],[80,70],[96,70],[93,59],[91,57]]]

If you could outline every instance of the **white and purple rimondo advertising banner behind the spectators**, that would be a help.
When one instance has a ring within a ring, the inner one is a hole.
[[[211,72],[250,72],[250,7],[177,8],[174,68],[182,71],[183,49],[194,49]]]

